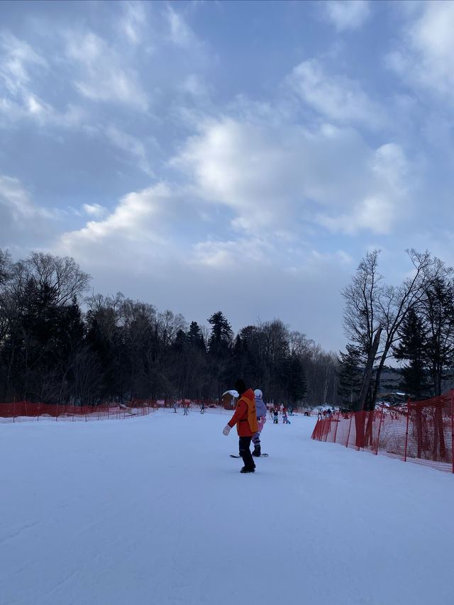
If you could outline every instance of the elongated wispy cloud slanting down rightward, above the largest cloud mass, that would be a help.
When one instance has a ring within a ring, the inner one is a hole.
[[[356,80],[338,74],[326,74],[317,60],[306,60],[287,78],[299,98],[330,120],[383,126],[384,114],[372,102]]]

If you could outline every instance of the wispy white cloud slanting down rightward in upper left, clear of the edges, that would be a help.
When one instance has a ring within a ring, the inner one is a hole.
[[[137,76],[124,57],[98,35],[89,32],[67,34],[67,57],[78,75],[77,90],[92,101],[109,101],[148,109],[148,99],[137,82]]]

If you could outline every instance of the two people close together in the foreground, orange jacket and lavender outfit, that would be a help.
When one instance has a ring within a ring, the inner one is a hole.
[[[255,391],[248,389],[242,378],[238,378],[236,381],[235,389],[239,396],[238,404],[235,413],[233,413],[222,432],[224,435],[228,435],[231,428],[236,425],[240,457],[243,458],[244,463],[240,472],[255,472],[253,457],[258,457],[262,453],[260,433],[267,421],[267,406],[263,403],[260,389],[255,389]],[[250,452],[251,441],[254,444],[253,453]]]

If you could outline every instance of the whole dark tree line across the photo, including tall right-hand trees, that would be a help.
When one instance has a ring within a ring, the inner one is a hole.
[[[367,410],[389,359],[411,399],[438,396],[453,379],[453,269],[406,254],[397,286],[380,274],[380,250],[362,258],[342,291],[348,343],[336,355],[279,319],[234,334],[221,311],[199,326],[121,293],[87,296],[91,278],[74,259],[13,262],[0,250],[0,401],[217,399],[243,377],[276,404]]]

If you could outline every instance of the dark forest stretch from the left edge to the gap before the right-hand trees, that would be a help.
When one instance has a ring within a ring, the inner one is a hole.
[[[338,357],[279,319],[235,335],[221,311],[199,326],[121,293],[86,296],[90,279],[70,257],[0,250],[0,401],[217,399],[238,377],[277,404],[340,401]]]

